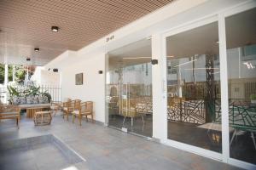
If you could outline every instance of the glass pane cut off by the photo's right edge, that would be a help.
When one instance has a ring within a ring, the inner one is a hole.
[[[230,157],[256,163],[256,8],[226,18]]]

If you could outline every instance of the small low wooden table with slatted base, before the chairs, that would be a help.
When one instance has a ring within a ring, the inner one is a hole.
[[[34,115],[34,123],[37,125],[49,125],[51,122],[51,111],[37,111]]]

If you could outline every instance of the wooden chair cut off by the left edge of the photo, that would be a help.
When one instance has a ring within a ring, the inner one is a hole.
[[[0,105],[0,120],[16,119],[16,125],[20,128],[20,107],[17,105]]]

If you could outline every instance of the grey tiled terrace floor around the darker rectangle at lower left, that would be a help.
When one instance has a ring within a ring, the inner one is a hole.
[[[109,127],[90,122],[83,122],[80,127],[77,122],[73,124],[64,121],[61,116],[55,116],[52,124],[44,127],[34,127],[32,120],[22,118],[20,130],[15,127],[14,121],[0,122],[1,140],[28,138],[47,133],[55,134],[86,159],[85,162],[69,168],[72,170],[239,169]],[[49,156],[52,159],[57,157]],[[68,170],[68,167],[66,168]]]

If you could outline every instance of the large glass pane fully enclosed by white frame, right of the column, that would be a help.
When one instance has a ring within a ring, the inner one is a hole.
[[[168,139],[222,151],[218,23],[166,38]]]

